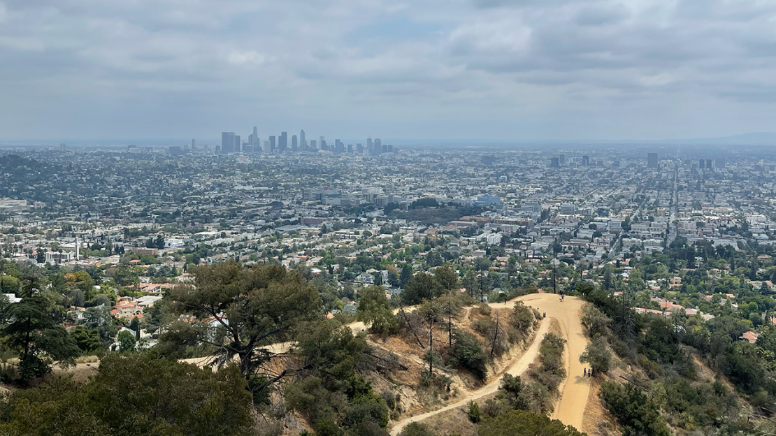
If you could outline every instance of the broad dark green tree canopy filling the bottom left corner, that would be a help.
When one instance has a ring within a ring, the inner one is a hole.
[[[86,384],[56,378],[0,401],[0,434],[248,436],[251,402],[236,365],[213,372],[143,355],[106,355]]]

